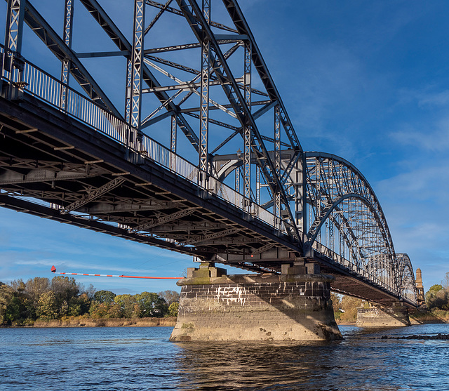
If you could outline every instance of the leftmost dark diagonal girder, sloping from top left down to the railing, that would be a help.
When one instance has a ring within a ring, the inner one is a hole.
[[[48,25],[46,20],[29,4],[29,1],[27,1],[25,7],[25,22],[60,61],[68,59],[71,62],[70,73],[92,100],[106,107],[116,117],[123,118],[91,74],[89,74],[88,70],[76,57],[76,53],[65,44],[53,28]]]

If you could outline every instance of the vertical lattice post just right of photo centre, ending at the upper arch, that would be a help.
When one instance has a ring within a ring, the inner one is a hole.
[[[244,74],[243,74],[243,86],[245,91],[245,104],[251,111],[251,42],[244,41],[245,47],[245,61],[244,61]],[[249,119],[246,119],[243,126],[243,195],[246,201],[251,199],[251,145],[253,143],[253,137],[251,132],[251,126]],[[249,212],[250,203],[245,206],[245,210]]]

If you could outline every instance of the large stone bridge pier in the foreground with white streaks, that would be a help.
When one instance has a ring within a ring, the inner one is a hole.
[[[171,341],[341,339],[330,300],[333,277],[319,266],[283,265],[283,274],[236,274],[213,263],[189,268]]]

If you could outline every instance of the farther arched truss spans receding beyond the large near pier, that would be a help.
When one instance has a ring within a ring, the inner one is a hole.
[[[368,180],[349,161],[305,152],[307,246],[415,303],[410,258],[396,254],[387,219]]]

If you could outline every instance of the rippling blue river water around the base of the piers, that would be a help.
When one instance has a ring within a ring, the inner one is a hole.
[[[0,329],[0,390],[449,390],[449,324],[319,343],[170,343],[170,327]]]

